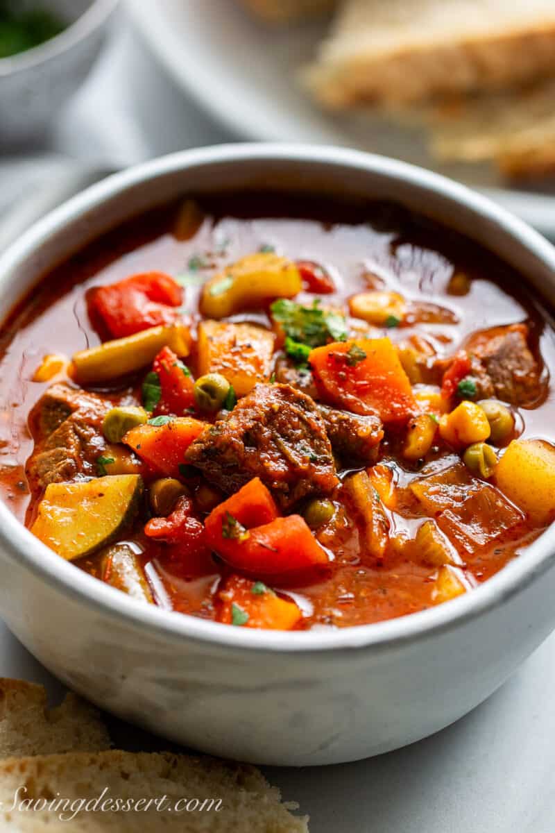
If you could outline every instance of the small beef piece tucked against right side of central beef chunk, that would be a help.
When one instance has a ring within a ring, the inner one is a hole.
[[[319,405],[318,410],[334,454],[340,461],[346,466],[374,466],[378,460],[379,443],[384,436],[379,416],[352,414],[327,405]]]

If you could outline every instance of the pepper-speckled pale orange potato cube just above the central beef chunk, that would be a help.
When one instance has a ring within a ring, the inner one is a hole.
[[[199,325],[199,375],[221,373],[242,397],[272,372],[275,335],[255,324],[203,321]]]

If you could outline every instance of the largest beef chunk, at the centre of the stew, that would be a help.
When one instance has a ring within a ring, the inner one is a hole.
[[[186,461],[225,493],[259,476],[283,509],[338,482],[324,420],[315,402],[290,385],[256,385],[203,431]]]

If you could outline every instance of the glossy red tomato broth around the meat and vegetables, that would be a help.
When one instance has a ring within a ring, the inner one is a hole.
[[[206,220],[191,240],[178,241],[171,234],[175,206],[126,223],[57,267],[39,283],[32,302],[23,301],[4,326],[0,360],[0,490],[7,505],[20,520],[27,518],[27,524],[32,521],[40,498],[34,490],[30,495],[25,477],[26,461],[33,448],[27,414],[51,384],[32,382],[32,374],[44,354],[56,352],[71,357],[72,353],[99,343],[87,317],[87,290],[111,285],[135,273],[165,272],[176,277],[194,272],[197,277],[209,278],[227,263],[271,246],[295,261],[315,262],[325,268],[335,291],[322,295],[323,307],[345,307],[347,299],[356,292],[376,286],[399,292],[414,303],[447,307],[458,317],[456,324],[401,325],[387,332],[379,330],[373,337],[387,335],[398,343],[413,333],[424,334],[438,356],[447,358],[453,357],[473,332],[526,321],[530,341],[536,352],[541,352],[545,367],[552,372],[555,368],[553,330],[538,305],[523,291],[518,276],[452,232],[402,210],[386,211],[380,206],[335,205],[333,213],[326,214],[316,202],[285,201],[275,195],[203,198],[200,202]],[[194,257],[202,258],[200,269],[189,268]],[[464,272],[471,279],[470,290],[463,296],[447,291],[454,271]],[[201,287],[192,281],[184,289],[185,315],[193,335],[199,320],[200,292]],[[310,304],[314,298],[315,295],[303,291],[295,301]],[[269,325],[266,310],[240,313],[230,320]],[[194,351],[185,362],[195,378]],[[114,403],[125,402],[126,397],[138,396],[139,387],[138,380],[130,380],[124,390],[107,386],[103,392]],[[538,407],[519,409],[523,436],[543,436],[553,441],[552,410],[551,390]],[[396,461],[395,474],[399,479],[397,506],[387,509],[391,535],[384,563],[378,565],[361,554],[359,521],[355,513],[341,507],[342,487],[338,486],[331,496],[339,507],[334,521],[315,533],[317,541],[330,553],[328,569],[300,586],[291,584],[290,576],[272,578],[272,588],[282,592],[284,599],[299,594],[304,600],[305,616],[297,627],[364,624],[423,610],[434,603],[432,591],[437,570],[420,563],[410,547],[405,546],[403,551],[401,546],[414,538],[419,524],[429,517],[410,492],[410,483],[422,476],[422,468],[400,459],[401,435],[394,426],[391,430],[388,426],[379,451],[380,460]],[[438,451],[432,449],[426,464],[442,461],[446,454],[444,446]],[[344,478],[348,472],[346,467],[340,476]],[[191,480],[193,497],[197,483],[195,478]],[[157,601],[176,611],[217,620],[221,611],[218,593],[233,571],[219,558],[187,564],[186,558],[180,561],[175,553],[171,557],[163,544],[143,534],[144,522],[143,518],[136,528],[126,531],[122,540],[134,541],[141,548],[141,565],[150,565],[150,571],[156,571],[166,594],[165,600]],[[476,583],[485,581],[525,551],[540,533],[541,529],[533,529],[523,521],[493,544],[465,552],[465,569]],[[97,556],[76,563],[99,577]]]

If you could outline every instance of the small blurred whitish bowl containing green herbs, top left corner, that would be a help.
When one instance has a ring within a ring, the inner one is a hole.
[[[18,0],[22,6],[34,0]],[[118,0],[41,0],[68,21],[39,46],[0,58],[0,142],[37,137],[92,67]]]

